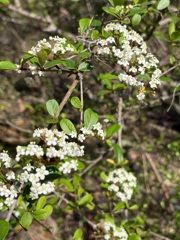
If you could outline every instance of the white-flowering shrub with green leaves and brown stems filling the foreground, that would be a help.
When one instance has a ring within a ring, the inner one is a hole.
[[[112,123],[105,119],[102,126],[97,113],[90,108],[84,110],[83,76],[96,67],[91,61],[95,57],[99,62],[114,67],[113,74],[101,74],[112,92],[122,87],[113,85],[111,80],[116,79],[126,87],[133,87],[137,99],[145,101],[146,94],[154,93],[160,85],[161,71],[159,61],[148,51],[140,34],[124,22],[129,18],[128,14],[132,14],[135,5],[116,6],[114,1],[109,2],[113,7],[104,10],[121,19],[122,23],[111,21],[101,26],[101,21],[97,25],[96,21],[84,18],[79,22],[81,36],[77,37],[75,44],[66,38],[50,36],[48,40],[44,38],[38,41],[36,46],[24,53],[20,64],[0,62],[1,69],[12,69],[19,73],[29,71],[40,77],[46,71],[54,70],[58,74],[75,76],[60,104],[54,99],[47,101],[49,127],[35,129],[34,140],[27,146],[17,146],[15,157],[10,157],[6,151],[0,153],[0,210],[7,212],[6,221],[2,223],[7,232],[7,222],[12,216],[27,230],[34,219],[41,221],[50,216],[62,194],[67,194],[71,197],[71,200],[68,197],[66,199],[68,210],[79,213],[83,208],[95,212],[91,220],[83,214],[81,216],[83,221],[93,226],[95,239],[140,239],[137,234],[139,226],[134,230],[133,221],[122,221],[123,215],[118,215],[126,210],[137,209],[137,205],[129,206],[128,203],[137,187],[137,179],[125,170],[127,161],[123,158],[120,141],[117,143],[115,136],[118,133],[118,140],[121,140],[120,121],[114,118],[115,123]],[[80,83],[80,99],[71,98],[71,104],[80,114],[78,131],[68,118],[60,115],[77,82]],[[99,152],[99,158],[91,159],[94,149],[88,140],[92,138],[110,149],[108,151],[113,158],[109,160],[112,163],[110,168],[105,164],[108,162],[108,153]],[[88,154],[86,146],[90,149]],[[106,198],[104,209],[94,203],[95,196],[83,186],[83,175],[91,168],[94,174],[94,166],[100,160],[102,169],[99,168],[98,177],[102,179],[98,180],[101,181],[101,195]],[[52,203],[51,198],[58,200]],[[65,211],[63,207],[62,211]],[[73,239],[82,239],[82,229],[77,229]]]

